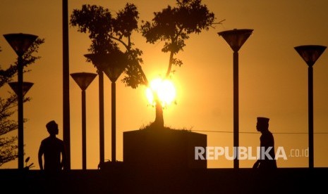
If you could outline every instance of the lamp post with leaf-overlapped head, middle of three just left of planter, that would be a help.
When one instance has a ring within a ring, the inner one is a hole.
[[[104,162],[104,72],[99,65],[99,54],[90,53],[84,56],[97,67],[99,79],[99,164],[102,164]]]

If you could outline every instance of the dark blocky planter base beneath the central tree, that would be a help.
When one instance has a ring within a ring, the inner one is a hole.
[[[123,162],[131,168],[206,169],[207,160],[195,160],[196,146],[207,146],[205,134],[167,128],[126,131]]]

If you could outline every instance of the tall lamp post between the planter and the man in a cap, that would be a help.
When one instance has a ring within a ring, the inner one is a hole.
[[[218,32],[219,36],[229,44],[233,50],[233,148],[236,149],[236,157],[233,159],[233,168],[239,168],[239,81],[238,81],[238,51],[245,41],[250,37],[253,30],[227,30]]]

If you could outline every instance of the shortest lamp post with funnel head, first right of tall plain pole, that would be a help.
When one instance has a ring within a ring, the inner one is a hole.
[[[71,73],[71,77],[82,90],[82,169],[87,169],[87,129],[86,129],[86,108],[85,108],[85,90],[91,84],[97,74],[88,72]]]

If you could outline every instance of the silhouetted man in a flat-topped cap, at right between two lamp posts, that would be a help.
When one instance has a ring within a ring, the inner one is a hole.
[[[260,136],[260,158],[255,162],[253,168],[277,169],[277,162],[274,153],[274,137],[269,131],[269,118],[257,117],[257,131]]]

